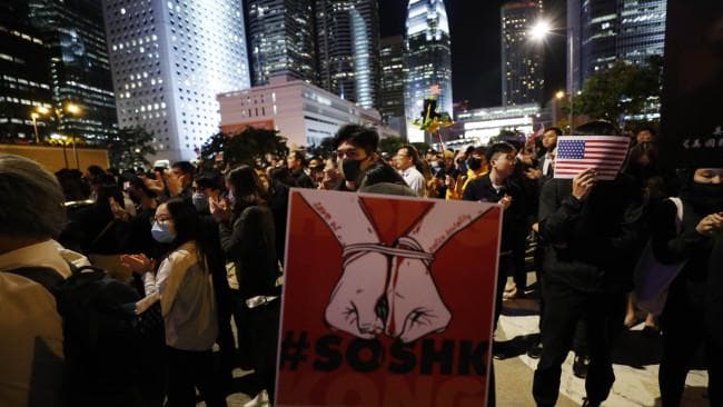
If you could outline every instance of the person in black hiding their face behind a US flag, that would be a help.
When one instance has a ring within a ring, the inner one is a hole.
[[[607,122],[591,122],[582,135],[615,135]],[[620,175],[597,181],[588,169],[568,179],[552,179],[542,190],[539,234],[545,247],[542,280],[543,351],[533,395],[538,406],[554,406],[561,365],[575,326],[586,321],[590,368],[584,406],[600,406],[615,381],[611,353],[622,330],[626,292],[632,288],[634,255],[641,246],[643,200],[634,180]]]

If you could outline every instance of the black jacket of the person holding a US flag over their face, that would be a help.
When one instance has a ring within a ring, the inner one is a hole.
[[[598,182],[583,201],[571,179],[552,179],[539,198],[545,278],[586,292],[632,288],[636,254],[644,242],[643,199],[633,179]]]

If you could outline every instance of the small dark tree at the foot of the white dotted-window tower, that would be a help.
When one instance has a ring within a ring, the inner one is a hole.
[[[150,165],[147,156],[156,153],[153,133],[141,127],[127,127],[108,143],[110,166],[119,169],[146,167]]]

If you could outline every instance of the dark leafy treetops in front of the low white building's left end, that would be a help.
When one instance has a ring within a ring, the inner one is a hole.
[[[288,151],[286,138],[278,131],[249,127],[236,135],[218,132],[211,136],[201,147],[200,158],[205,167],[212,167],[220,157],[226,166],[254,166],[267,155],[283,157]]]

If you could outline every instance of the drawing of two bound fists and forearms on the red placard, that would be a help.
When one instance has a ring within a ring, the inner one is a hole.
[[[487,207],[460,215],[435,204],[406,236],[385,246],[358,196],[327,196],[321,201],[300,193],[344,248],[341,276],[325,312],[328,325],[364,339],[384,332],[404,343],[446,329],[452,314],[432,276],[434,256]]]

